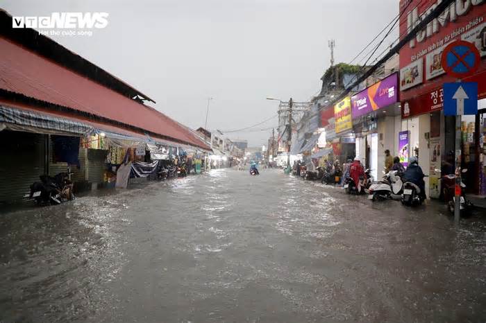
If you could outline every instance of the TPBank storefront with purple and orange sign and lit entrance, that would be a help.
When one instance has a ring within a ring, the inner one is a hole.
[[[401,120],[398,79],[398,73],[392,73],[351,98],[356,156],[375,179],[385,166],[385,150],[399,154],[395,140]]]

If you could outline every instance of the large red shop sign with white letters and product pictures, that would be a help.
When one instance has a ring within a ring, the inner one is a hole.
[[[441,0],[401,0],[400,10],[405,12],[400,18],[401,39],[405,37],[421,19],[424,19]],[[456,78],[444,73],[442,52],[455,40],[473,43],[480,57],[486,56],[486,1],[456,0],[439,17],[433,19],[417,33],[399,52],[400,99],[402,107],[408,102],[410,116],[414,111],[430,111],[439,102],[430,104],[429,95],[442,87],[445,82],[455,82]],[[425,60],[425,62],[423,62]],[[424,71],[425,69],[425,71]],[[486,64],[480,62],[473,76],[462,78],[464,82],[478,82],[479,98],[486,97]],[[425,74],[425,75],[424,75]],[[483,77],[479,77],[483,74]],[[415,103],[426,107],[415,106]],[[442,108],[439,107],[439,109]],[[407,113],[403,113],[407,115]]]

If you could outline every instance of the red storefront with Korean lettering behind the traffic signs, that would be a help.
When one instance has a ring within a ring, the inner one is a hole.
[[[401,1],[401,5],[403,5]],[[461,3],[460,3],[461,2]],[[414,12],[403,15],[400,20],[400,35],[406,35],[410,24],[437,1],[412,0]],[[464,10],[459,10],[464,6]],[[445,46],[455,40],[474,43],[481,58],[486,55],[486,3],[484,1],[456,1],[448,8],[443,19],[436,19],[430,26],[436,30],[422,31],[403,46],[400,51],[400,98],[402,107],[401,130],[409,133],[409,156],[416,156],[426,175],[426,193],[431,198],[441,196],[439,178],[453,173],[455,151],[455,116],[444,116],[443,90],[445,82],[456,82],[446,75],[440,58]],[[451,37],[453,35],[453,37]],[[402,36],[403,37],[403,36]],[[486,98],[486,64],[483,59],[478,71],[462,79],[463,82],[478,82],[478,106]],[[485,195],[484,119],[483,111],[476,116],[462,116],[461,160],[467,168],[463,180],[467,191]]]

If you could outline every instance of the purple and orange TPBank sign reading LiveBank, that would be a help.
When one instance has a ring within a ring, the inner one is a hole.
[[[351,98],[353,119],[399,102],[399,74],[393,73]]]

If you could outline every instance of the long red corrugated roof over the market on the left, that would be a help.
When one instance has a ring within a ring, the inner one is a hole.
[[[176,121],[0,37],[0,88],[210,149]]]

